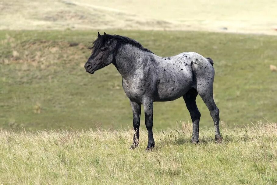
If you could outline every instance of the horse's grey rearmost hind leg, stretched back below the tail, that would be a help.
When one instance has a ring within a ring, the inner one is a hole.
[[[199,93],[211,113],[211,117],[213,118],[215,123],[215,141],[220,143],[222,141],[222,138],[219,132],[219,109],[217,108],[213,98],[212,84],[211,86],[209,86],[208,89],[197,87],[197,92]]]

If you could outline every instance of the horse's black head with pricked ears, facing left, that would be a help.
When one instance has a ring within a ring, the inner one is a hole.
[[[87,72],[93,74],[96,70],[111,64],[115,60],[114,50],[117,41],[110,39],[109,36],[106,33],[100,35],[98,32],[98,38],[92,43],[91,56],[84,66]]]

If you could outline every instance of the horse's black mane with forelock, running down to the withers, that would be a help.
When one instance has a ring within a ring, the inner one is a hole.
[[[116,49],[119,48],[122,44],[131,44],[143,51],[153,53],[152,51],[148,50],[147,48],[144,48],[139,42],[137,42],[136,40],[133,40],[129,37],[106,34],[106,38],[117,41]],[[98,53],[98,51],[100,51],[101,47],[103,47],[105,44],[106,38],[105,38],[105,35],[101,35],[100,37],[98,37],[96,40],[94,40],[91,43],[92,47],[90,47],[89,49],[93,49],[93,54],[96,54],[96,53]]]

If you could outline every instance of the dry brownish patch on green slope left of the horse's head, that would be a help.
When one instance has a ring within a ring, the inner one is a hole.
[[[86,61],[87,46],[82,43],[64,41],[29,41],[16,43],[13,38],[2,41],[6,51],[0,62],[3,64],[24,63],[46,68],[55,63],[70,65]]]

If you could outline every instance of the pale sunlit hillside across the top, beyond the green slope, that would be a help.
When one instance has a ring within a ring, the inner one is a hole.
[[[277,35],[275,0],[2,0],[0,30],[204,30]]]

